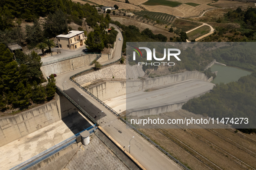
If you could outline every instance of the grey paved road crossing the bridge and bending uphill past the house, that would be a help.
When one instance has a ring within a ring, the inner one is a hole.
[[[117,29],[117,28],[116,28]],[[118,30],[119,31],[119,30]],[[122,37],[120,31],[117,35],[117,43],[115,51],[113,52],[113,58],[105,63],[110,63],[121,57],[122,41],[118,41],[118,38]],[[101,63],[104,64],[104,63]],[[69,80],[70,76],[81,72],[85,69],[89,69],[92,66],[87,66],[81,69],[76,69],[71,72],[65,72],[56,77],[56,85],[62,88],[62,83],[65,92],[74,100],[77,101],[81,107],[84,108],[91,116],[96,117],[96,120],[100,120],[100,126],[102,126],[107,133],[109,133],[120,145],[124,146],[126,150],[129,150],[129,141],[133,136],[135,138],[131,142],[131,154],[135,157],[144,167],[148,170],[181,170],[181,167],[175,164],[172,160],[166,157],[162,152],[156,149],[153,145],[147,142],[144,138],[138,135],[131,129],[126,129],[126,125],[117,119],[107,108],[95,101],[91,96],[85,93],[82,89],[78,88],[74,83]],[[66,81],[66,82],[65,82]],[[81,95],[82,94],[82,95]],[[78,101],[79,96],[79,101]],[[103,111],[103,113],[101,113]],[[100,116],[101,115],[101,116]]]

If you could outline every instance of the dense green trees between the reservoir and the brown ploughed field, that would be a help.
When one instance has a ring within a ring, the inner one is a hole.
[[[182,109],[203,116],[219,117],[219,120],[225,117],[246,117],[249,123],[243,126],[247,129],[239,130],[256,133],[256,129],[253,129],[256,122],[256,72],[241,77],[237,82],[216,84],[210,93],[189,100]],[[231,125],[239,128],[236,124]]]

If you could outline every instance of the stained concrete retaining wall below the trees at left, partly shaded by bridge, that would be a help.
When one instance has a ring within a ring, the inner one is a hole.
[[[62,95],[38,107],[13,116],[0,117],[0,146],[77,113],[76,107]]]

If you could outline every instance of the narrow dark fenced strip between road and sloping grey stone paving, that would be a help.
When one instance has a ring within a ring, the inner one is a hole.
[[[125,152],[121,151],[118,146],[116,146],[110,139],[107,138],[101,131],[97,130],[95,135],[130,169],[130,170],[140,170],[140,168],[131,161]]]

